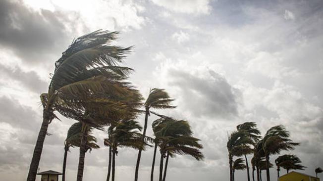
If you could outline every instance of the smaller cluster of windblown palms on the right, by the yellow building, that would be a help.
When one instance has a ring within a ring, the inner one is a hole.
[[[228,135],[227,149],[229,156],[230,181],[234,181],[236,170],[247,170],[247,178],[250,181],[249,164],[247,155],[253,155],[251,159],[252,180],[262,181],[262,171],[266,171],[267,181],[270,181],[269,169],[273,167],[269,157],[280,154],[281,151],[293,150],[300,143],[293,142],[290,134],[282,125],[269,128],[264,136],[257,129],[255,122],[245,122],[237,126],[237,130]],[[242,158],[234,157],[244,156]],[[296,155],[281,155],[275,159],[277,177],[279,178],[280,168],[288,173],[290,170],[304,170],[301,160]]]

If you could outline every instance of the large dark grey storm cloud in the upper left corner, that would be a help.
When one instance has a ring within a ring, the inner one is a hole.
[[[48,54],[65,47],[66,21],[63,14],[33,11],[22,1],[0,1],[0,46],[12,49],[28,63],[46,62]]]

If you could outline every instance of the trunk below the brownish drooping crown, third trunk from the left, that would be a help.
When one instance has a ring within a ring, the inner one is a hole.
[[[82,127],[84,127],[84,126],[82,126]],[[85,153],[86,153],[86,142],[87,142],[86,130],[83,130],[82,138],[81,138],[81,144],[80,144],[80,156],[79,156],[79,161],[78,161],[78,169],[77,169],[76,181],[82,181],[83,180],[83,171],[84,171]]]

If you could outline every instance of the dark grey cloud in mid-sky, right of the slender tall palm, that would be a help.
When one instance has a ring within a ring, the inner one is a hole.
[[[210,77],[200,78],[186,72],[169,70],[171,86],[181,90],[185,106],[196,116],[230,118],[237,115],[239,91],[224,77],[209,71]]]

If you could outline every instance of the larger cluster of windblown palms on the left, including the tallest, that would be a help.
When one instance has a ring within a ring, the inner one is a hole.
[[[64,143],[63,176],[67,153],[71,147],[79,147],[77,181],[82,181],[85,154],[98,149],[94,129],[106,131],[104,144],[109,147],[107,181],[115,179],[115,161],[118,148],[129,147],[139,150],[135,169],[138,181],[141,153],[148,146],[154,146],[151,180],[153,181],[157,148],[160,149],[160,181],[165,181],[169,156],[191,155],[203,159],[203,146],[193,137],[189,123],[152,112],[150,109],[175,108],[163,89],[150,90],[143,103],[143,97],[127,81],[132,69],[121,66],[131,47],[111,45],[117,32],[98,30],[74,40],[55,62],[54,74],[47,93],[41,94],[43,122],[35,145],[27,181],[35,181],[49,124],[62,116],[77,122],[71,125]],[[141,110],[144,107],[145,110]],[[136,118],[145,113],[142,128]],[[150,114],[159,117],[152,124],[155,137],[146,136]],[[141,130],[143,133],[141,134]],[[165,158],[165,163],[163,160]],[[164,168],[163,168],[164,167]]]

